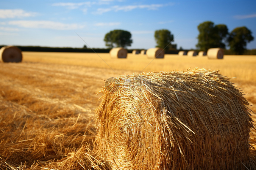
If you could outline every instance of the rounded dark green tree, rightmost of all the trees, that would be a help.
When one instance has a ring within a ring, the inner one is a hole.
[[[227,41],[230,46],[230,51],[235,52],[235,54],[243,54],[246,50],[247,42],[254,39],[252,36],[252,31],[250,31],[245,26],[235,28],[229,35]]]

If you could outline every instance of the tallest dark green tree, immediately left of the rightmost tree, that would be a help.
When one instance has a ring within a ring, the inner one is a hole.
[[[223,40],[228,35],[227,26],[224,24],[214,25],[211,21],[205,21],[197,26],[199,35],[197,37],[197,48],[207,51],[209,48],[221,47],[225,48]]]

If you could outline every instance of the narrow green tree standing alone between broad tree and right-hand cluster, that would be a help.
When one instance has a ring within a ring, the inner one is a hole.
[[[154,34],[157,46],[160,48],[177,48],[177,45],[172,45],[171,42],[174,41],[173,34],[171,34],[171,31],[167,29],[161,29],[161,30],[156,30]]]

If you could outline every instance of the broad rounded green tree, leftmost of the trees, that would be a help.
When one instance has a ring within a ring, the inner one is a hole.
[[[105,37],[104,41],[107,47],[127,47],[131,46],[132,44],[132,34],[129,31],[124,30],[113,30],[108,32]]]

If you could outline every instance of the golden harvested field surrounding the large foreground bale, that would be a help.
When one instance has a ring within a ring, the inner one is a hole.
[[[122,74],[220,70],[243,90],[248,107],[256,112],[256,56],[208,60],[128,54],[127,59],[116,59],[106,53],[23,52],[23,57],[22,63],[0,62],[0,169],[79,169],[96,159],[100,164],[100,158],[91,156],[93,115],[102,95],[97,92],[109,77]],[[254,136],[252,131],[253,146]]]

